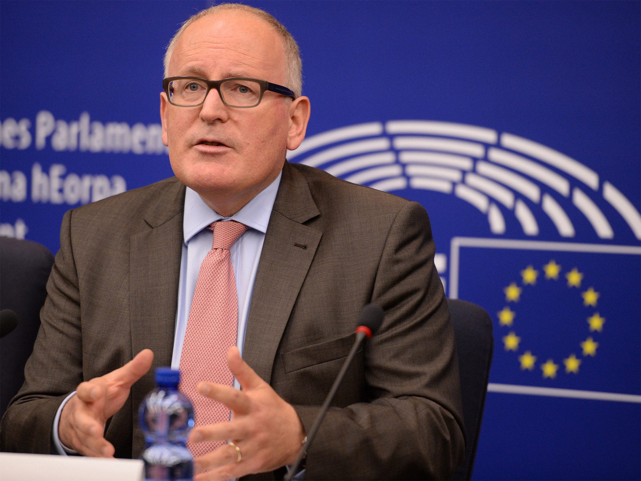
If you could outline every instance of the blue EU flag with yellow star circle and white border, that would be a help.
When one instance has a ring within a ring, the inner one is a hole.
[[[451,294],[494,320],[490,382],[640,394],[641,248],[458,238],[451,255]]]

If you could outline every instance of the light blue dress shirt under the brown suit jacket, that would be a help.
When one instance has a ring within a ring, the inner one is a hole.
[[[183,215],[184,242],[178,283],[178,310],[176,312],[176,330],[174,332],[174,352],[171,359],[172,369],[178,369],[180,366],[180,355],[183,351],[183,341],[185,341],[189,310],[192,307],[194,291],[196,291],[198,273],[204,258],[212,249],[213,232],[207,226],[215,221],[237,221],[249,227],[229,249],[231,266],[234,269],[236,278],[236,292],[238,294],[238,335],[236,345],[242,356],[258,261],[263,249],[265,232],[267,232],[267,224],[269,224],[269,217],[276,200],[281,175],[282,173],[278,174],[276,180],[231,217],[222,217],[222,215],[214,212],[194,190],[187,187]],[[235,379],[234,385],[237,388],[239,387]],[[67,453],[76,454],[76,451],[63,446],[58,437],[60,413],[65,403],[74,394],[76,394],[76,391],[69,394],[62,401],[53,421],[53,442],[56,450],[61,455],[67,455]]]

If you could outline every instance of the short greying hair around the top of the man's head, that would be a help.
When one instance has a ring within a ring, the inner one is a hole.
[[[221,3],[207,8],[206,10],[201,10],[195,15],[189,17],[187,21],[181,25],[176,32],[176,35],[174,35],[167,45],[167,51],[165,51],[165,58],[163,60],[165,77],[169,76],[169,60],[171,59],[172,53],[174,53],[174,48],[176,47],[178,38],[183,34],[183,31],[197,20],[224,10],[251,13],[251,15],[267,22],[269,26],[276,30],[278,35],[283,39],[283,47],[285,47],[285,62],[287,62],[287,72],[285,72],[287,85],[285,85],[285,87],[294,90],[297,97],[301,96],[303,93],[303,62],[301,61],[301,52],[296,40],[294,40],[292,34],[287,31],[287,28],[285,28],[283,24],[276,20],[272,15],[265,12],[265,10],[260,10],[260,8],[254,8],[253,6],[244,5],[242,3]]]

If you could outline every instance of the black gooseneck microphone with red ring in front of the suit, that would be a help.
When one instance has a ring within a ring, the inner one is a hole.
[[[352,350],[349,351],[349,355],[347,355],[347,359],[345,359],[343,367],[341,367],[340,371],[338,371],[338,376],[336,376],[334,384],[331,386],[331,389],[329,389],[327,398],[325,398],[324,403],[322,403],[322,407],[320,407],[319,415],[317,416],[316,421],[314,421],[312,430],[310,431],[310,434],[307,435],[306,441],[303,444],[303,448],[301,448],[301,452],[298,453],[296,462],[294,462],[292,468],[289,470],[289,473],[287,473],[285,481],[290,481],[298,471],[298,468],[301,466],[301,461],[307,455],[310,444],[312,444],[312,441],[314,440],[314,437],[319,430],[320,423],[325,417],[325,413],[329,409],[329,403],[331,403],[331,400],[333,400],[336,391],[338,391],[338,386],[340,385],[340,382],[343,380],[345,373],[347,372],[347,367],[349,367],[349,365],[352,363],[354,355],[356,355],[356,351],[358,351],[358,348],[360,348],[363,340],[365,338],[369,339],[370,337],[372,337],[372,335],[376,333],[376,331],[378,331],[378,328],[381,326],[381,324],[383,324],[383,316],[383,309],[378,307],[376,304],[368,304],[361,310],[361,313],[358,316],[358,326],[356,327],[356,341],[354,341]]]

